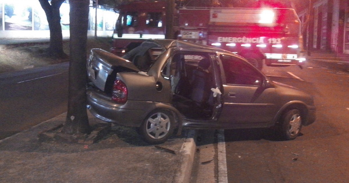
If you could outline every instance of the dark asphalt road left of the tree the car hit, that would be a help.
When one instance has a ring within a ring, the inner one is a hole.
[[[68,62],[0,74],[0,139],[67,110]]]

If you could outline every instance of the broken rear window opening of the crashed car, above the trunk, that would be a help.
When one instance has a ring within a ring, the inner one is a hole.
[[[147,72],[157,57],[165,49],[154,42],[144,41],[139,46],[127,52],[122,58],[131,61],[138,69]]]

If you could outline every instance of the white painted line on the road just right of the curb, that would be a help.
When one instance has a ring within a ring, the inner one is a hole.
[[[224,130],[218,130],[218,183],[228,183]]]

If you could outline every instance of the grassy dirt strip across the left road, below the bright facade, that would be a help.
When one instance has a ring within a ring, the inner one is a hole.
[[[112,46],[111,38],[90,38],[87,41],[87,54],[91,48],[109,50]],[[6,45],[0,50],[0,73],[19,71],[49,64],[69,61],[69,59],[55,59],[44,54],[49,43],[31,43]],[[64,41],[63,49],[69,55],[69,41]]]

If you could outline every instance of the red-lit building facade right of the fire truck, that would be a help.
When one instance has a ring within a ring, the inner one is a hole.
[[[349,1],[309,0],[298,16],[307,51],[349,54]],[[310,12],[310,14],[309,14]]]

